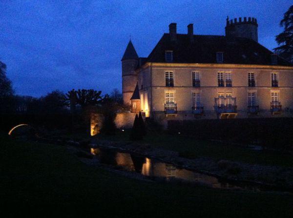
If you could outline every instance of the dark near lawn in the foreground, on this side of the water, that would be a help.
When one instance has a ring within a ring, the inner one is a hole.
[[[0,137],[0,217],[292,217],[293,196],[125,178],[65,147]],[[4,215],[5,214],[5,215]],[[91,216],[92,217],[92,216]]]

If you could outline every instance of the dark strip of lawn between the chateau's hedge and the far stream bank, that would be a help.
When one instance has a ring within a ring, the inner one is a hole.
[[[130,130],[119,131],[115,136],[96,136],[96,139],[129,140]],[[148,133],[141,142],[150,143],[152,146],[182,153],[186,158],[207,157],[213,159],[227,159],[242,161],[251,164],[278,165],[293,167],[292,154],[251,150],[239,145],[227,145],[222,142],[198,140],[182,135],[167,133]]]

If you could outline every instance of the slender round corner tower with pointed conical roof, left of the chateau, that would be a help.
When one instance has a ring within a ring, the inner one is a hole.
[[[137,84],[137,73],[135,69],[138,65],[138,55],[131,40],[126,47],[122,61],[122,94],[123,102],[131,104],[131,97]]]

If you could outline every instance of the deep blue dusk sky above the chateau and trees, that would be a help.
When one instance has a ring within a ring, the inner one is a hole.
[[[129,35],[147,57],[168,24],[178,33],[225,35],[226,17],[255,17],[259,43],[272,50],[292,0],[0,0],[0,60],[16,94],[73,88],[121,90]]]

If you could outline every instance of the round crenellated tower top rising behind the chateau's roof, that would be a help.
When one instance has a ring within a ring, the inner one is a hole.
[[[225,27],[226,37],[234,38],[234,37],[242,37],[251,39],[254,41],[258,41],[257,34],[257,21],[255,18],[246,18],[242,20],[242,18],[237,18],[233,20],[229,20],[227,17],[227,24]]]

